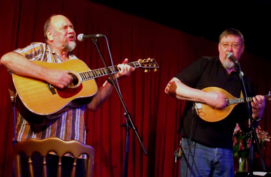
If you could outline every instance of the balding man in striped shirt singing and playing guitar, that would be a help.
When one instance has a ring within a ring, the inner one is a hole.
[[[68,71],[45,68],[31,61],[44,61],[50,63],[62,63],[71,59],[78,59],[71,51],[75,48],[75,32],[73,25],[67,17],[63,15],[51,16],[44,25],[44,37],[46,43],[31,43],[29,46],[16,49],[2,56],[0,65],[6,67],[10,72],[18,75],[25,75],[37,79],[45,80],[55,87],[63,89],[72,82],[72,76]],[[121,69],[118,72],[117,78],[130,75],[135,69],[128,63],[128,59],[118,67]],[[91,103],[85,106],[79,106],[69,109],[56,121],[46,125],[36,125],[26,121],[20,113],[18,113],[16,125],[16,142],[26,141],[28,139],[45,139],[57,137],[65,141],[77,140],[82,143],[86,142],[86,130],[84,125],[85,108],[96,110],[108,98],[113,86],[106,81],[97,91]],[[46,105],[44,105],[46,106]],[[83,156],[84,158],[84,156]],[[79,159],[78,159],[79,160]],[[23,161],[23,160],[22,160]],[[42,166],[39,156],[33,157],[35,176],[42,176]],[[52,163],[51,163],[52,162]],[[65,157],[63,160],[63,176],[69,176],[72,169],[73,159]],[[27,165],[27,159],[22,163]],[[56,176],[58,158],[56,155],[47,156],[48,176]],[[39,166],[38,166],[39,165]],[[81,168],[78,168],[81,167]],[[22,168],[23,173],[27,176],[28,168]],[[39,173],[39,174],[36,174]],[[77,161],[76,174],[83,177],[85,173],[84,159]]]

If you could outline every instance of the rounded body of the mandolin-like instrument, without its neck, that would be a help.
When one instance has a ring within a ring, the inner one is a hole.
[[[223,93],[226,99],[236,99],[227,91],[218,87],[206,87],[203,89],[205,92],[216,91]],[[195,109],[197,114],[207,122],[216,122],[226,118],[236,105],[226,106],[224,109],[215,109],[203,103],[196,103]]]

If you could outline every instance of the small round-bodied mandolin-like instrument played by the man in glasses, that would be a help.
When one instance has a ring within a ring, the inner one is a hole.
[[[226,118],[237,104],[244,103],[245,101],[244,98],[235,98],[227,91],[218,87],[206,87],[203,89],[203,91],[216,91],[223,93],[228,103],[228,105],[224,109],[215,109],[214,107],[208,106],[203,103],[194,103],[197,114],[207,122],[217,122]],[[271,101],[271,92],[269,92],[269,94],[265,95],[264,97],[266,98],[266,100]],[[246,101],[252,102],[252,99],[253,97],[248,97],[246,98]]]

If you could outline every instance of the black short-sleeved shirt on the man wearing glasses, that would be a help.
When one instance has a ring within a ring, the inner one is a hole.
[[[239,75],[233,71],[229,75],[217,57],[203,57],[175,75],[183,84],[202,90],[219,87],[236,98],[240,98]],[[254,96],[251,79],[243,76],[248,97]],[[180,134],[209,147],[232,148],[232,136],[236,123],[248,119],[244,104],[238,104],[223,120],[207,122],[192,112],[192,102],[187,102],[180,123]],[[193,125],[192,125],[193,124]]]

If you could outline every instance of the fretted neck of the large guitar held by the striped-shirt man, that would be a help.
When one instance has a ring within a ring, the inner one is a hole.
[[[138,61],[137,62],[130,62],[127,65],[130,65],[134,68],[141,67],[141,65]],[[114,67],[108,67],[108,70],[109,70],[110,74],[112,74],[114,72],[119,72],[121,69],[118,66],[114,66]],[[108,75],[108,72],[107,72],[106,68],[102,68],[102,69],[97,69],[97,70],[92,70],[92,71],[80,72],[79,75],[82,78],[82,81],[85,81],[85,80],[101,77],[103,75]]]

